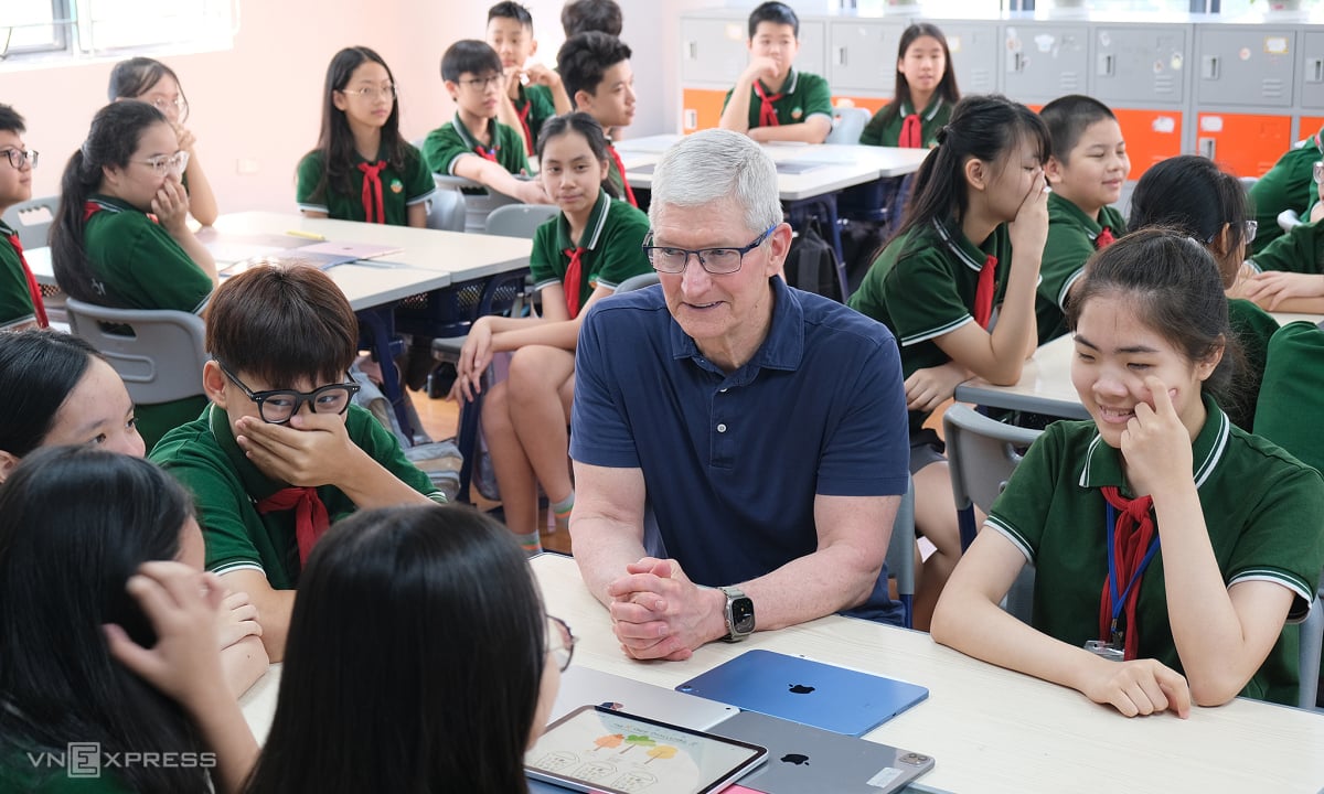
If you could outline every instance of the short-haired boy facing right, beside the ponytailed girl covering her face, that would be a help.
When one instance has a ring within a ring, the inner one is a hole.
[[[1070,94],[1043,106],[1053,152],[1043,164],[1049,196],[1049,241],[1039,266],[1039,295],[1034,303],[1039,344],[1067,332],[1063,311],[1071,288],[1096,249],[1127,233],[1112,204],[1131,172],[1121,126],[1108,106]]]

